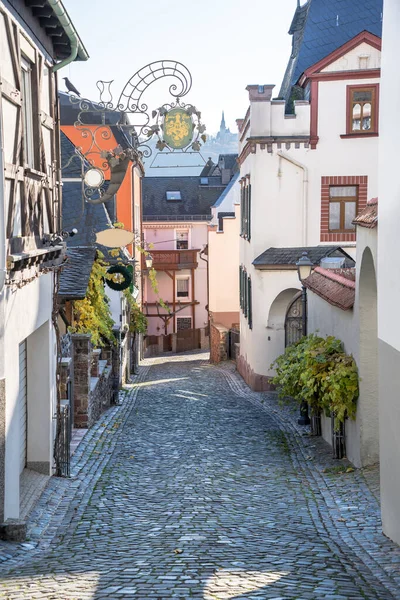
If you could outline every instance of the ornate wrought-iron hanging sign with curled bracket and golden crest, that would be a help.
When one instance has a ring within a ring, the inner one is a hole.
[[[166,77],[177,80],[169,87],[174,100],[153,111],[150,117],[142,96],[152,83]],[[200,140],[206,139],[200,112],[181,101],[192,87],[192,76],[182,63],[160,60],[142,67],[125,84],[116,103],[112,84],[113,81],[97,82],[98,102],[70,97],[77,113],[74,125],[82,138],[76,153],[82,160],[83,196],[92,204],[107,202],[114,196],[130,162],[151,156],[148,142],[154,135],[158,137],[156,148],[170,152],[198,152]],[[150,124],[151,118],[156,118],[154,125]],[[174,141],[178,138],[180,143]],[[116,148],[108,143],[113,140],[117,140]]]

